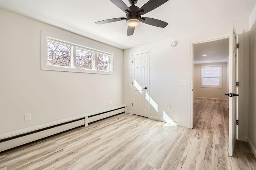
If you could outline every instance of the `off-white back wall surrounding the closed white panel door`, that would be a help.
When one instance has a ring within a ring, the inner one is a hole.
[[[160,28],[159,28],[160,29]],[[158,104],[158,111],[150,107],[151,118],[162,119],[162,112],[178,125],[190,127],[190,60],[189,42],[200,42],[202,39],[228,34],[229,24],[220,25],[173,37],[156,43],[141,45],[124,51],[124,104],[131,112],[132,103],[132,54],[150,50],[150,96]],[[176,40],[177,45],[170,47],[170,42]],[[186,86],[181,80],[187,80]],[[168,109],[168,104],[171,109]]]

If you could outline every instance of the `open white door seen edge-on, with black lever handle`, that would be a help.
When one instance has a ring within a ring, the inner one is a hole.
[[[236,116],[237,116],[237,38],[234,25],[232,26],[232,32],[230,32],[230,52],[229,52],[229,155],[232,156],[234,152],[234,147],[236,145]]]

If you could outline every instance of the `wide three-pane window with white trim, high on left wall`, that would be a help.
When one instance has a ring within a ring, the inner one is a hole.
[[[42,31],[42,70],[114,74],[111,51],[86,47],[85,43],[62,38],[47,36]]]

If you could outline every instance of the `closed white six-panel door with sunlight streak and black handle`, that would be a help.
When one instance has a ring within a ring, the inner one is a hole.
[[[148,117],[148,53],[132,55],[132,113]]]

